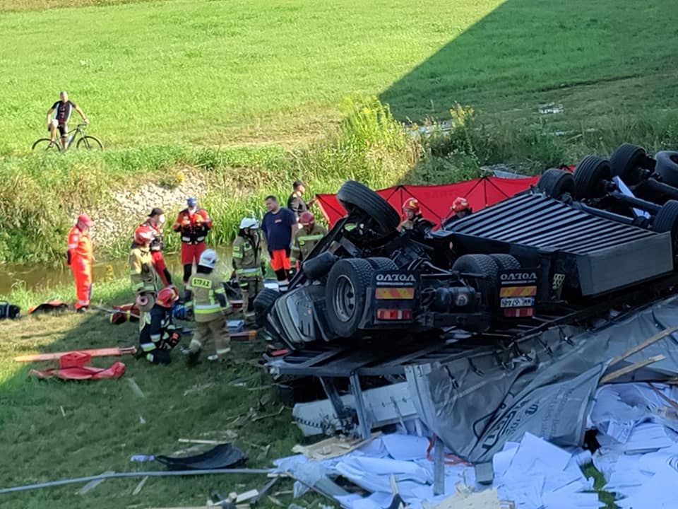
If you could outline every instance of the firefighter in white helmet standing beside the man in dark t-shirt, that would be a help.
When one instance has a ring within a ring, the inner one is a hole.
[[[233,242],[233,269],[242,291],[242,312],[245,324],[254,324],[254,298],[263,288],[261,233],[255,218],[240,221],[238,236]]]

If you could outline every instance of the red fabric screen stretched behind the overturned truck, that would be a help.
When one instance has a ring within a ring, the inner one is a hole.
[[[399,185],[377,191],[399,213],[408,198],[416,198],[425,218],[440,223],[450,214],[450,206],[456,197],[464,197],[473,210],[480,210],[535,185],[539,177],[500,178],[481,177],[466,182],[446,185]],[[317,203],[330,226],[346,211],[334,194],[316,194]]]

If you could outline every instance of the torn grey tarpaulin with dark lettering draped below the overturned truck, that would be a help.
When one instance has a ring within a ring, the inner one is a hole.
[[[485,462],[523,433],[558,445],[580,445],[585,416],[607,363],[653,334],[678,324],[678,297],[667,298],[605,327],[557,327],[519,342],[521,350],[481,354],[406,368],[420,419],[456,455]],[[619,366],[663,353],[665,360],[626,379],[678,375],[678,334],[647,346]],[[619,379],[617,381],[623,381]]]

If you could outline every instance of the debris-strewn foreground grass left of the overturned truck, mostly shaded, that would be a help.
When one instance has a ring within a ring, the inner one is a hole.
[[[129,291],[112,292],[107,304],[129,300]],[[33,484],[106,471],[162,469],[155,463],[130,462],[132,455],[171,454],[186,444],[179,438],[217,439],[223,432],[237,433],[234,442],[249,456],[249,467],[268,467],[275,457],[289,455],[301,440],[290,424],[290,413],[236,424],[252,408],[261,415],[275,414],[280,403],[271,392],[261,368],[249,361],[256,353],[235,344],[234,362],[203,362],[189,369],[173,353],[168,366],[150,365],[132,356],[93,358],[107,367],[126,364],[119,380],[37,380],[30,368],[44,369],[52,362],[20,365],[11,359],[32,352],[53,352],[137,344],[138,324],[114,326],[107,316],[67,313],[25,317],[0,324],[0,487]],[[184,339],[184,342],[186,340]],[[131,390],[133,378],[144,394]],[[242,380],[244,386],[234,385]],[[263,402],[263,404],[261,403]],[[268,454],[264,454],[270,445]],[[261,476],[203,476],[149,479],[137,496],[132,491],[140,479],[111,479],[83,495],[81,486],[69,485],[0,495],[1,508],[126,508],[164,505],[199,505],[210,489],[242,492],[263,486]]]

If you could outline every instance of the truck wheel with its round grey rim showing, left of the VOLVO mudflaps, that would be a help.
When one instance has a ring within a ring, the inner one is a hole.
[[[366,259],[346,258],[332,267],[325,300],[328,324],[338,336],[352,337],[357,332],[372,274],[374,269]]]

